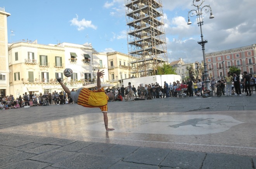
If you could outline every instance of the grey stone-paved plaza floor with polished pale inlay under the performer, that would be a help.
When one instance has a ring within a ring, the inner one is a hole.
[[[3,169],[255,169],[256,94],[0,110]]]

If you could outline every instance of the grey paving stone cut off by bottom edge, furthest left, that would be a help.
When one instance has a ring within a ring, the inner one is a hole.
[[[9,166],[3,167],[2,169],[42,169],[50,166],[51,164],[39,161],[24,160],[10,164]]]

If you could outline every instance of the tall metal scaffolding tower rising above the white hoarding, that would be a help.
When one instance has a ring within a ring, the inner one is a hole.
[[[135,77],[156,75],[168,64],[161,0],[125,0],[128,53]]]

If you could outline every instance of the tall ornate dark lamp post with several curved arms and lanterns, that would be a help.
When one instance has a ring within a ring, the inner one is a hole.
[[[200,3],[200,1],[202,1]],[[195,2],[200,3],[199,5],[196,5]],[[210,79],[209,79],[209,73],[208,73],[208,69],[207,69],[207,65],[206,65],[206,58],[205,58],[205,48],[204,48],[204,44],[206,44],[208,41],[204,40],[204,36],[202,35],[202,25],[204,24],[203,22],[203,15],[202,15],[202,11],[205,8],[204,12],[208,13],[209,11],[211,11],[211,15],[210,15],[210,19],[213,19],[213,12],[211,10],[210,5],[204,5],[203,7],[201,7],[202,3],[204,2],[204,0],[193,0],[193,6],[197,7],[197,9],[192,9],[189,11],[188,14],[188,25],[192,24],[192,22],[190,22],[189,16],[190,17],[194,17],[194,15],[196,15],[197,17],[197,25],[200,26],[200,30],[201,30],[201,41],[198,41],[197,43],[199,45],[202,46],[202,52],[203,52],[203,57],[204,57],[204,79],[205,79],[205,83],[204,86],[207,87],[208,89],[210,89]]]

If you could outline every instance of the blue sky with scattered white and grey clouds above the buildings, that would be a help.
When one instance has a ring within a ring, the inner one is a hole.
[[[162,0],[168,61],[202,61],[200,28],[195,17],[187,25],[193,0]],[[92,43],[98,52],[128,53],[125,0],[0,0],[7,18],[8,41],[38,44]],[[206,53],[256,44],[255,0],[205,0],[214,19],[204,15]],[[13,33],[11,32],[13,31]],[[13,35],[11,35],[13,34]]]

